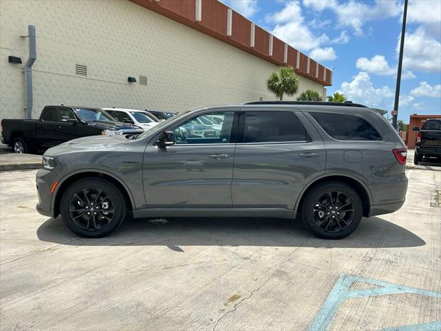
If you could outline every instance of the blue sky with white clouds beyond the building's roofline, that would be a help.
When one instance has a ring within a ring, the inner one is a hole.
[[[390,114],[404,0],[221,1],[333,70],[327,95]],[[398,119],[441,115],[441,0],[409,0],[404,36]]]

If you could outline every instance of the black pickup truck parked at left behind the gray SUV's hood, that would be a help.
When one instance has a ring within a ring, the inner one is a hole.
[[[101,108],[45,106],[40,119],[1,120],[1,141],[16,153],[46,150],[72,139],[96,134],[134,135],[143,128],[116,121]]]

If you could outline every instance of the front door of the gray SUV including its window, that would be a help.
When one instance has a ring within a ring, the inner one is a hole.
[[[197,114],[165,129],[174,132],[174,145],[147,146],[143,183],[149,207],[232,207],[236,144],[230,141],[237,114],[234,121],[234,111],[215,113],[224,118],[222,126],[194,123],[205,116]]]

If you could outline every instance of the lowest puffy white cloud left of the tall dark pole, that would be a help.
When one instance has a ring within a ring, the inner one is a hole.
[[[380,106],[383,99],[393,97],[389,86],[374,88],[367,72],[358,72],[351,82],[343,82],[340,90],[348,100],[365,103],[367,106]]]

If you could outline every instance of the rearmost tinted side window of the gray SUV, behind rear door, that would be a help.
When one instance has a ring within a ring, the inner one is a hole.
[[[311,112],[312,117],[329,136],[338,140],[380,141],[382,137],[361,117],[326,112]]]

